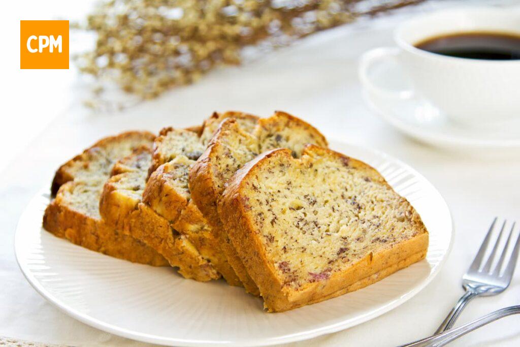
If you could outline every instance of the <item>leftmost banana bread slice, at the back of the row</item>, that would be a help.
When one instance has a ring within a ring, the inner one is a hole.
[[[148,132],[126,132],[103,138],[63,164],[53,179],[55,198],[45,210],[43,227],[93,251],[137,263],[167,265],[155,250],[110,228],[99,214],[101,190],[114,162],[134,148],[150,147],[154,137]]]

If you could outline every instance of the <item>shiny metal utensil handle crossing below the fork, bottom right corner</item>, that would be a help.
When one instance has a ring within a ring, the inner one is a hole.
[[[440,347],[445,344],[461,337],[462,335],[467,334],[470,331],[473,331],[477,328],[480,328],[488,323],[495,322],[495,320],[500,319],[502,317],[510,316],[513,314],[520,313],[520,305],[517,306],[509,306],[504,309],[500,309],[498,311],[493,311],[483,317],[472,320],[470,323],[466,323],[458,328],[454,328],[451,330],[447,330],[439,333],[438,335],[431,336],[422,340],[418,340],[409,344],[404,344],[400,347]]]

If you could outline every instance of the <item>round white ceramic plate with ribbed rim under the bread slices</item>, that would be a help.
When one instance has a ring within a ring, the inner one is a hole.
[[[21,215],[15,238],[20,268],[59,309],[123,337],[167,345],[269,345],[313,338],[366,322],[404,303],[438,273],[453,233],[439,192],[408,165],[380,152],[332,148],[378,169],[420,213],[430,232],[426,260],[367,288],[285,313],[223,280],[199,283],[171,268],[132,264],[59,239],[41,227],[49,202],[42,190]]]

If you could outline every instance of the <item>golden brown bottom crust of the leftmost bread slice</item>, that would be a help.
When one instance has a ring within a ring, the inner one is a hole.
[[[62,185],[61,190],[72,189],[74,182]],[[166,260],[144,243],[118,233],[100,220],[68,208],[58,194],[45,209],[43,227],[54,235],[66,238],[90,250],[153,266],[166,266]]]

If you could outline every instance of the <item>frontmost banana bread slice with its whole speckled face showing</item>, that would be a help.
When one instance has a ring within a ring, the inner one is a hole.
[[[218,204],[269,311],[362,288],[425,257],[419,214],[371,166],[314,145],[293,154],[258,156]]]

